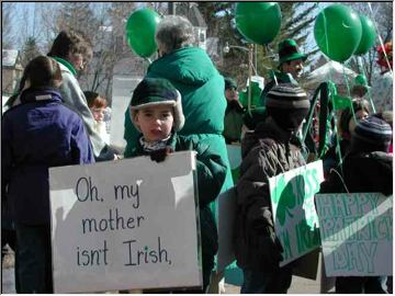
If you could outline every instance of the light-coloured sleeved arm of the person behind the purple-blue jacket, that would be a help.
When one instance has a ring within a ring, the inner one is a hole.
[[[72,109],[83,121],[92,144],[97,161],[115,159],[115,150],[104,143],[100,134],[94,129],[94,118],[88,107],[87,99],[79,87],[77,79],[68,71],[63,70],[63,84],[60,87],[61,99],[65,104]]]

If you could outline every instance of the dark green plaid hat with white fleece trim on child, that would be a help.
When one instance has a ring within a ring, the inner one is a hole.
[[[182,113],[181,94],[167,79],[162,78],[145,78],[138,83],[133,92],[129,113],[133,124],[136,126],[137,111],[155,105],[170,105],[173,107],[174,130],[180,130],[184,124],[184,115]]]

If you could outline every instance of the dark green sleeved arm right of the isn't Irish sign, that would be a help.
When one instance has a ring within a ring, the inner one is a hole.
[[[198,145],[196,169],[200,206],[213,202],[219,194],[226,177],[226,163],[208,145]]]

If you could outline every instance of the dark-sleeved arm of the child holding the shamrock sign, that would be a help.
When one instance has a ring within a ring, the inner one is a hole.
[[[274,153],[252,148],[241,163],[236,185],[238,213],[249,250],[257,254],[257,264],[278,266],[282,246],[274,231],[269,178],[276,174]]]

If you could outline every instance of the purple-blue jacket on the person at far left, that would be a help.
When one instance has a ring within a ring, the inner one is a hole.
[[[54,89],[22,92],[1,123],[1,195],[15,223],[49,223],[48,168],[94,162],[82,119]]]

